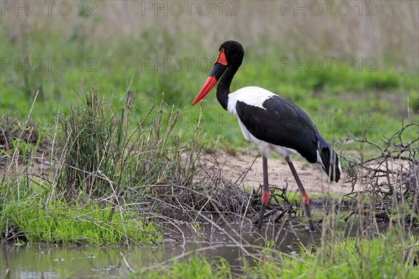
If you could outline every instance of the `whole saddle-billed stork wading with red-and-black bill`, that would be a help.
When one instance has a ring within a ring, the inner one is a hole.
[[[265,209],[270,199],[267,158],[270,152],[274,151],[284,156],[288,163],[300,190],[310,229],[314,230],[309,196],[295,171],[291,156],[302,156],[313,167],[319,169],[323,176],[336,182],[339,181],[341,173],[339,158],[318,133],[309,116],[289,100],[256,86],[244,87],[230,93],[231,81],[242,65],[243,57],[244,50],[240,43],[234,40],[223,43],[219,47],[214,68],[192,105],[202,100],[219,81],[216,88],[217,100],[224,110],[237,117],[244,138],[258,146],[263,156],[263,194],[258,229],[262,228]]]

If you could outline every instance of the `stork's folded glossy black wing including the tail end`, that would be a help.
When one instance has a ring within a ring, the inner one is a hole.
[[[317,162],[320,153],[323,169],[332,181],[339,181],[339,158],[332,147],[318,133],[309,116],[289,100],[272,96],[263,107],[237,101],[237,116],[258,140],[294,149],[309,163]]]

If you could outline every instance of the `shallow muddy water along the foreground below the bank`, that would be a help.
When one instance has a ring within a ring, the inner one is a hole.
[[[315,211],[314,220],[321,220],[323,212]],[[219,222],[220,223],[220,222]],[[256,246],[264,246],[261,235],[273,239],[277,247],[284,252],[297,252],[298,245],[309,246],[319,243],[322,226],[317,224],[317,231],[310,232],[300,220],[284,221],[281,225],[264,225],[263,231],[258,231],[253,225],[237,224],[223,225],[222,228],[213,224],[201,223],[196,227],[200,232],[197,236],[192,225],[180,227],[182,233],[175,227],[161,247],[94,247],[94,246],[45,246],[6,244],[10,278],[121,278],[128,276],[128,268],[121,257],[123,252],[126,261],[132,269],[138,270],[144,266],[152,266],[188,252],[199,250],[199,255],[208,259],[214,256],[226,258],[230,265],[239,265],[239,258],[244,251],[235,246],[240,241]],[[336,228],[346,231],[346,235],[355,235],[359,231],[357,220],[351,223],[339,223]],[[381,227],[383,229],[383,227]],[[253,248],[256,252],[258,248]],[[249,249],[251,250],[251,249]],[[1,253],[0,278],[6,270],[6,259]]]

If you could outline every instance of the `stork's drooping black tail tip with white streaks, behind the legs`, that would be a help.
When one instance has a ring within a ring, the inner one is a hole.
[[[321,161],[324,165],[324,170],[330,181],[339,181],[340,179],[340,167],[339,167],[339,157],[337,153],[330,147],[330,145],[321,137],[317,135],[317,150],[320,153]]]

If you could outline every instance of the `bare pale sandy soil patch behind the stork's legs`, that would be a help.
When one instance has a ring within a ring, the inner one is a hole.
[[[262,157],[257,153],[236,153],[231,155],[226,152],[214,154],[203,154],[201,163],[203,165],[213,165],[218,162],[219,166],[223,169],[223,174],[230,176],[233,182],[240,179],[244,172],[249,172],[244,177],[244,186],[252,186],[258,188],[263,183],[263,168]],[[216,159],[215,159],[216,158]],[[256,158],[256,160],[255,160]],[[254,163],[253,163],[254,161]],[[327,179],[323,179],[321,173],[311,167],[309,163],[303,162],[293,158],[295,169],[297,169],[298,176],[304,185],[305,190],[309,195],[313,194],[337,194],[344,195],[351,193],[351,184],[345,183],[346,174],[341,176],[339,183],[329,183]],[[252,165],[253,164],[253,165]],[[270,158],[267,160],[269,183],[270,185],[284,188],[288,183],[288,191],[296,192],[298,190],[297,184],[294,181],[293,174],[282,158]],[[355,190],[359,190],[355,188]]]

